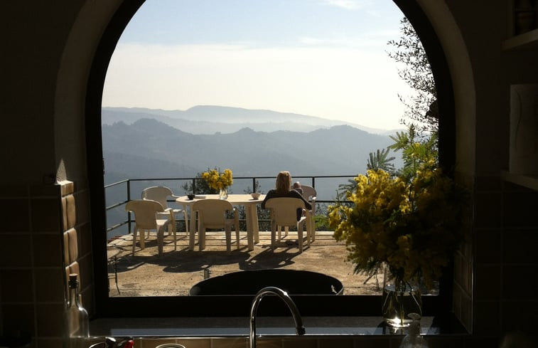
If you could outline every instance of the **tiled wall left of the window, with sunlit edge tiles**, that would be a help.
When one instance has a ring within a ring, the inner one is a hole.
[[[0,186],[0,336],[29,334],[33,347],[60,347],[65,306],[63,232],[76,236],[73,270],[92,308],[92,262],[85,190],[71,182]],[[37,339],[36,339],[37,337]]]

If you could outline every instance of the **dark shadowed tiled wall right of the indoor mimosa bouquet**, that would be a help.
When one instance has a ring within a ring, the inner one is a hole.
[[[538,192],[498,176],[481,177],[475,202],[473,334],[534,333]]]

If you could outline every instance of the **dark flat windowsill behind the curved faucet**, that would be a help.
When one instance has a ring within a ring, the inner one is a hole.
[[[381,317],[303,317],[307,336],[405,334]],[[94,337],[247,337],[247,317],[102,318],[90,323]],[[422,334],[468,334],[454,319],[422,317]],[[295,335],[291,317],[257,318],[257,334]]]

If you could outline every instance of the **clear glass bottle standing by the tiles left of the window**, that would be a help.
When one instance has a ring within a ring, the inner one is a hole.
[[[90,338],[90,317],[80,303],[78,275],[69,275],[69,302],[65,310],[65,339],[67,347],[86,348]]]

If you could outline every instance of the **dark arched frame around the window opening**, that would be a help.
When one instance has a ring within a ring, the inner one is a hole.
[[[105,231],[106,217],[104,212],[104,181],[102,168],[101,139],[101,107],[104,79],[114,48],[122,31],[145,0],[123,1],[104,31],[95,58],[92,63],[87,83],[86,96],[86,139],[87,168],[91,195],[92,230]],[[445,168],[453,167],[455,162],[455,127],[454,100],[451,77],[448,65],[434,33],[431,23],[415,1],[394,0],[405,16],[413,23],[416,32],[424,44],[429,56],[431,68],[436,80],[439,110],[439,161]],[[252,297],[109,297],[106,265],[106,236],[104,233],[93,233],[95,266],[95,299],[97,315],[107,316],[140,316],[159,315],[174,316],[181,308],[183,315],[190,316],[248,316]],[[442,282],[441,293],[435,298],[425,298],[424,308],[431,311],[425,315],[448,312],[451,307],[451,274],[446,274]],[[295,300],[301,307],[303,315],[379,315],[380,296],[328,296],[323,297],[323,306],[319,305],[320,296],[301,295]],[[268,306],[269,307],[269,306]],[[159,312],[154,312],[158,308]],[[302,310],[304,309],[304,310]],[[360,310],[357,310],[360,309]],[[269,309],[266,309],[269,310]],[[276,308],[276,310],[279,310]],[[360,312],[357,312],[360,311]],[[276,314],[267,313],[267,314]]]

